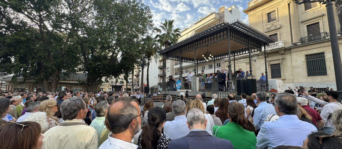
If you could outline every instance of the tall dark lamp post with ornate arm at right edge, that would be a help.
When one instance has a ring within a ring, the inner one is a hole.
[[[328,26],[329,26],[329,33],[330,33],[330,44],[331,44],[331,51],[332,51],[332,61],[334,62],[334,70],[335,70],[336,89],[337,89],[337,92],[340,94],[339,96],[339,101],[340,101],[342,99],[342,78],[340,77],[340,75],[342,74],[342,64],[341,64],[339,43],[337,40],[334,8],[333,8],[332,1],[334,0],[312,0],[312,1],[303,0],[302,2],[298,2],[298,0],[295,0],[295,3],[303,4],[303,3],[319,2],[322,4],[326,4],[325,7],[327,9]]]

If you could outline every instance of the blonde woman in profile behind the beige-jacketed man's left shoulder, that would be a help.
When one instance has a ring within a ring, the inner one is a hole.
[[[46,115],[49,117],[49,129],[55,126],[58,126],[58,118],[53,116],[57,112],[57,101],[56,100],[44,100],[38,106],[38,111],[45,112]]]

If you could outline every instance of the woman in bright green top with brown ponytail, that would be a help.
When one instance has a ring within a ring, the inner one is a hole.
[[[229,122],[225,126],[214,126],[213,135],[232,142],[234,149],[256,149],[255,127],[245,117],[245,107],[239,102],[228,106]]]

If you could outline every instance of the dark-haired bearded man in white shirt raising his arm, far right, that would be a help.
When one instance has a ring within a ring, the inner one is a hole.
[[[311,95],[308,95],[308,93],[306,93],[305,90],[302,94],[305,95],[311,101],[324,105],[320,113],[320,116],[324,122],[322,130],[325,133],[332,135],[332,132],[335,131],[335,126],[332,124],[331,114],[336,109],[342,109],[341,103],[337,101],[339,98],[339,93],[333,90],[327,90],[325,91],[324,96],[322,96],[323,100],[319,100],[315,97],[312,97]]]

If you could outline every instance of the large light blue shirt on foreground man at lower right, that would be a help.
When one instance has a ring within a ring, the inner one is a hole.
[[[255,113],[254,113],[255,114]],[[306,136],[317,128],[301,121],[297,115],[283,115],[277,121],[265,122],[257,136],[257,147],[272,149],[279,145],[302,146]]]

